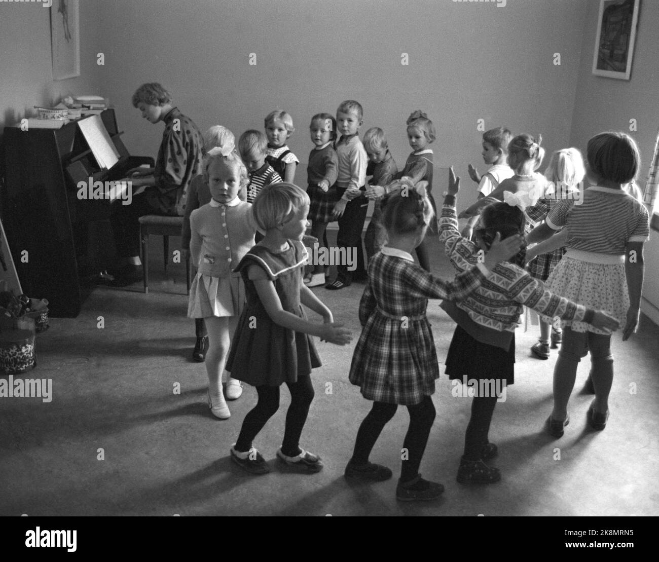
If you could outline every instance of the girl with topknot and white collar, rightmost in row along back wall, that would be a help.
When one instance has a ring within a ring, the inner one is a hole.
[[[435,126],[428,119],[428,115],[418,109],[414,111],[407,118],[407,140],[413,152],[407,157],[403,170],[395,176],[395,179],[409,177],[413,184],[420,181],[428,182],[428,198],[435,213],[437,206],[432,197],[433,152],[428,145],[435,140],[436,136]],[[370,199],[377,199],[389,191],[391,191],[391,186],[371,186],[366,188],[366,196]],[[421,267],[430,271],[430,256],[425,240],[421,240],[416,247],[416,258]]]

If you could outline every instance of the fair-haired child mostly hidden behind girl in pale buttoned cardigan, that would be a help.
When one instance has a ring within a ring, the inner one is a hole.
[[[204,153],[208,153],[212,148],[227,147],[227,150],[234,150],[235,137],[233,132],[228,128],[221,125],[214,125],[204,133]],[[200,208],[202,205],[210,203],[211,196],[208,184],[204,181],[204,175],[200,174],[190,183],[190,190],[188,191],[188,200],[185,205],[185,215],[183,215],[183,229],[181,231],[181,248],[183,248],[183,258],[185,260],[190,256],[190,213],[195,209]],[[195,318],[194,328],[196,332],[197,341],[192,350],[192,360],[203,362],[206,360],[206,352],[208,351],[208,332],[204,326],[203,318]],[[229,399],[236,399],[240,394],[235,396],[239,391],[242,393],[241,387],[231,385],[227,387],[227,397]],[[231,396],[229,396],[231,394]]]

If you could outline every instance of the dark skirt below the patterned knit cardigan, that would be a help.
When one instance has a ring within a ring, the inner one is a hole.
[[[505,351],[474,339],[457,325],[445,365],[449,379],[501,379],[511,385],[515,382],[515,335]]]

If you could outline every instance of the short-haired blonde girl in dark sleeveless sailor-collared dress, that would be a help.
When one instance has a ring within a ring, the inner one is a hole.
[[[336,345],[349,343],[350,331],[333,323],[332,314],[302,283],[307,254],[301,240],[308,225],[309,197],[298,186],[266,186],[254,200],[254,219],[266,232],[244,256],[236,271],[243,275],[247,304],[233,339],[227,370],[256,387],[258,403],[247,413],[231,459],[252,474],[270,468],[252,440],[279,408],[279,387],[286,383],[291,405],[277,457],[306,472],[322,469],[320,457],[299,447],[309,406],[314,398],[312,368],[320,358],[309,335]],[[306,320],[301,304],[323,317]]]

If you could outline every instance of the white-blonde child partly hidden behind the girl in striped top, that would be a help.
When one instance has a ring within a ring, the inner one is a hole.
[[[583,158],[581,152],[576,148],[564,148],[557,150],[552,154],[549,165],[544,172],[547,181],[552,182],[554,190],[552,194],[547,194],[547,198],[538,200],[537,204],[527,207],[525,212],[527,217],[535,223],[544,221],[547,213],[556,207],[563,199],[571,197],[579,189],[579,184],[583,180],[586,171],[583,167]],[[527,252],[528,253],[528,252]],[[565,248],[558,248],[544,254],[534,252],[536,258],[529,261],[527,269],[531,277],[546,281],[550,273],[558,265],[558,262],[565,254]],[[529,256],[527,255],[527,260]],[[540,359],[548,359],[550,353],[550,324],[540,320],[540,340],[531,346],[531,352]],[[556,349],[561,343],[562,333],[560,328],[552,326],[552,349]]]

